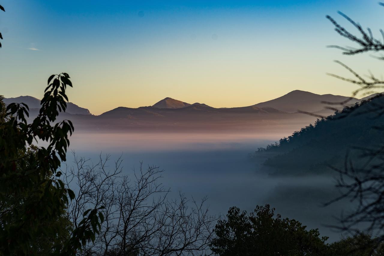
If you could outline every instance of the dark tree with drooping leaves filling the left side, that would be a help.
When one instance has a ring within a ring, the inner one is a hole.
[[[74,128],[68,120],[53,123],[66,110],[69,78],[67,73],[50,76],[39,114],[30,123],[24,103],[0,104],[0,251],[4,255],[33,254],[42,234],[52,241],[68,237],[49,250],[71,255],[93,240],[101,226],[100,207],[84,212],[76,229],[63,221],[68,196],[73,199],[74,193],[60,180],[58,168],[66,161],[68,134]],[[36,147],[33,141],[48,146]],[[58,221],[58,226],[53,224]]]

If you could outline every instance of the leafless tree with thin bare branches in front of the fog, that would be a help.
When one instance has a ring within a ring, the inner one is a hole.
[[[74,154],[74,153],[73,153]],[[169,201],[157,166],[123,175],[121,157],[109,168],[110,156],[93,165],[74,154],[74,167],[63,173],[67,186],[76,187],[68,216],[78,226],[84,209],[104,206],[104,221],[94,243],[84,246],[92,255],[196,255],[204,254],[215,218],[201,203],[183,194]],[[76,185],[75,185],[76,184]],[[192,204],[193,207],[189,205]]]

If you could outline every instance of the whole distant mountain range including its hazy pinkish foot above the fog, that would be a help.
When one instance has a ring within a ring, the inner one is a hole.
[[[326,105],[321,101],[339,102],[347,98],[296,90],[275,100],[235,108],[213,108],[202,103],[189,104],[165,98],[153,106],[121,106],[98,116],[89,115],[87,109],[68,103],[68,111],[62,113],[61,118],[73,120],[77,128],[84,130],[247,130],[260,133],[278,132],[278,136],[281,136],[316,121],[314,116],[297,113],[298,109],[327,116],[333,111],[324,110]],[[350,102],[354,103],[355,100],[359,101],[354,99]],[[4,101],[7,104],[26,103],[33,110],[31,117],[37,115],[37,109],[40,108],[40,101],[30,96],[8,98]]]

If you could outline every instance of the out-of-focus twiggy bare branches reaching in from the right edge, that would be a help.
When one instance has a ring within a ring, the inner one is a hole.
[[[380,3],[380,5],[384,5]],[[355,35],[344,27],[339,25],[332,17],[327,16],[335,26],[335,31],[344,38],[347,38],[351,42],[355,43],[357,47],[340,47],[338,45],[331,45],[332,48],[338,48],[343,51],[344,55],[356,55],[361,53],[379,53],[384,50],[384,32],[380,30],[383,39],[377,39],[374,37],[371,29],[364,30],[362,26],[349,18],[344,13],[339,12],[349,23],[351,23],[360,35]],[[384,60],[383,57],[373,56],[378,60]],[[353,96],[359,92],[372,93],[373,90],[381,89],[384,86],[384,81],[378,79],[373,74],[369,74],[368,78],[359,75],[349,66],[344,63],[337,62],[346,70],[348,70],[354,78],[345,78],[330,74],[341,80],[358,85],[359,88],[353,92]],[[341,103],[343,104],[343,103]],[[375,118],[382,118],[384,113],[384,104],[375,104],[366,111],[366,113],[375,113]],[[364,113],[355,113],[350,111],[348,115],[361,115]],[[341,196],[330,201],[328,204],[334,203],[341,199],[348,198],[351,201],[357,201],[358,207],[353,211],[348,212],[346,215],[340,218],[341,226],[339,228],[343,231],[350,231],[353,233],[359,233],[359,225],[366,223],[366,231],[374,232],[377,235],[379,242],[384,241],[384,146],[383,146],[383,126],[375,126],[372,129],[376,130],[378,135],[376,141],[381,145],[372,147],[371,145],[361,146],[358,148],[351,148],[351,154],[347,153],[343,168],[332,167],[339,173],[339,179],[337,186],[343,191]],[[358,157],[356,152],[359,153]],[[378,243],[380,244],[380,243]]]

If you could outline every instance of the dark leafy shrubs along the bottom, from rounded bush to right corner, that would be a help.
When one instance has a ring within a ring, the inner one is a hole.
[[[275,209],[256,206],[247,214],[236,207],[219,219],[210,248],[215,255],[286,255],[286,256],[379,256],[384,243],[368,233],[342,236],[332,244],[318,229],[307,230],[299,221],[281,218]]]

